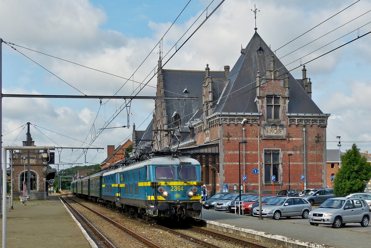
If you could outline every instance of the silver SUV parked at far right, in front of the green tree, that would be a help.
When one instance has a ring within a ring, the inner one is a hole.
[[[370,221],[370,210],[361,198],[331,198],[318,209],[309,212],[308,221],[313,226],[325,224],[340,228],[346,223],[361,223],[361,226],[366,227]]]

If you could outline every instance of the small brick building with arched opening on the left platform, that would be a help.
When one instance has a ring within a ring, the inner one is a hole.
[[[27,141],[23,141],[22,146],[27,146]],[[30,146],[35,146],[32,138],[30,138]],[[56,169],[49,168],[43,160],[42,153],[43,151],[30,150],[30,199],[44,199],[45,180],[55,177]],[[11,161],[13,161],[13,195],[22,196],[23,181],[26,182],[27,193],[27,150],[14,151]],[[10,170],[8,174],[10,176]],[[49,183],[46,182],[46,188],[48,185]]]

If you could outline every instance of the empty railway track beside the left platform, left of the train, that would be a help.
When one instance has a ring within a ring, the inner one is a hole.
[[[104,240],[105,244],[111,248],[162,248],[144,238],[143,236],[131,231],[125,226],[120,225],[114,220],[102,215],[101,213],[89,208],[88,206],[74,207],[66,199],[60,199],[72,209],[89,229]],[[72,199],[72,198],[69,198]],[[72,199],[73,200],[73,199]],[[75,201],[75,200],[74,200]],[[76,202],[76,201],[75,201]],[[80,203],[81,204],[81,203]],[[89,233],[88,233],[89,234]],[[90,236],[90,235],[89,235]],[[98,245],[98,244],[97,244]]]

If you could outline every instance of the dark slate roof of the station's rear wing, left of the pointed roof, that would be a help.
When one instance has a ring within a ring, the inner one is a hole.
[[[168,128],[173,127],[171,115],[178,109],[178,113],[183,118],[181,125],[184,125],[199,108],[202,107],[202,85],[205,80],[205,71],[181,71],[162,69],[165,97],[179,97],[184,95],[183,90],[187,87],[189,96],[199,97],[198,100],[166,100],[166,113],[168,118]],[[224,71],[213,72],[210,71],[210,76],[213,79],[224,79]],[[224,83],[225,84],[225,83]],[[224,85],[223,84],[223,85]],[[169,92],[170,91],[170,92]],[[178,94],[174,94],[174,93]],[[179,95],[180,94],[180,95]],[[183,111],[184,108],[184,111]],[[202,110],[198,111],[196,118],[200,118]]]

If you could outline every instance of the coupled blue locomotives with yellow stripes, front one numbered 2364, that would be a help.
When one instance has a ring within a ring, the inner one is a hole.
[[[198,217],[200,163],[185,156],[157,156],[103,174],[102,198],[113,207],[148,217]]]

